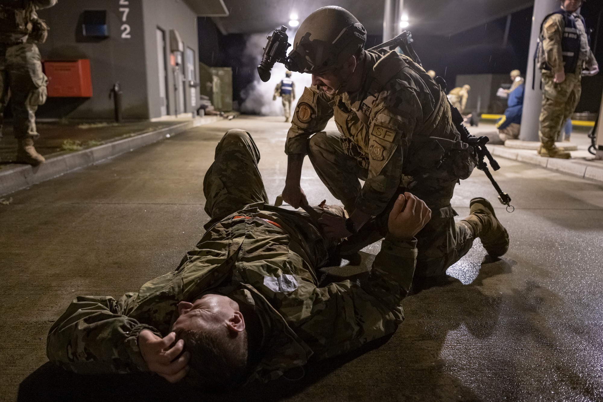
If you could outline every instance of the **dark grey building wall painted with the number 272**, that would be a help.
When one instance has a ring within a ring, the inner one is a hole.
[[[128,8],[125,22],[125,12],[119,8]],[[107,10],[108,38],[83,36],[84,10]],[[39,115],[111,119],[110,89],[119,81],[124,118],[149,117],[142,0],[60,0],[54,7],[40,10],[38,14],[50,27],[48,40],[39,45],[42,58],[90,59],[92,75],[92,98],[49,98]],[[122,37],[124,24],[130,27],[130,38]]]

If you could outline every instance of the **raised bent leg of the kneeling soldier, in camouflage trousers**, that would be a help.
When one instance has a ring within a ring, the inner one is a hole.
[[[318,177],[333,197],[343,203],[348,214],[352,214],[361,190],[358,179],[366,179],[367,170],[344,152],[340,136],[341,133],[337,131],[316,133],[310,138],[308,156]]]

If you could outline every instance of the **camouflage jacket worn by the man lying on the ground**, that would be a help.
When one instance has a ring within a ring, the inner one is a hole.
[[[416,240],[386,238],[370,275],[318,287],[329,244],[305,212],[251,204],[216,223],[180,266],[115,300],[78,296],[52,325],[51,362],[80,373],[148,371],[137,347],[147,328],[166,336],[177,304],[204,293],[254,309],[262,360],[249,378],[267,381],[392,333],[414,273]],[[191,371],[189,381],[195,382]]]

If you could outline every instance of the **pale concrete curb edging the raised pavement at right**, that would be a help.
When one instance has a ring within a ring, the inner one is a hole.
[[[537,165],[549,170],[560,171],[562,173],[571,174],[572,176],[581,177],[582,179],[603,182],[603,164],[584,161],[582,159],[543,158],[540,155],[526,153],[524,150],[507,148],[502,145],[488,145],[488,149],[490,149],[490,152],[494,156]]]

